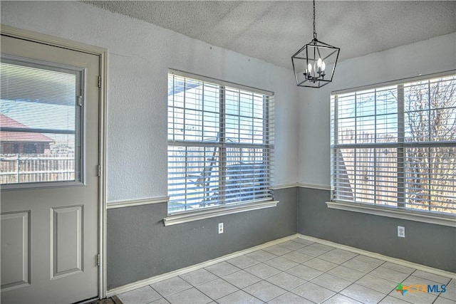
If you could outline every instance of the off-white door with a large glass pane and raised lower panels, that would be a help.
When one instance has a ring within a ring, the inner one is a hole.
[[[99,57],[3,35],[1,56],[1,303],[93,298]]]

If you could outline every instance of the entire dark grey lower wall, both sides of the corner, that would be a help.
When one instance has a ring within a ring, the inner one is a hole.
[[[109,209],[108,290],[296,232],[456,272],[455,228],[328,209],[326,190],[280,189],[274,196],[275,208],[167,227],[166,204]],[[217,234],[220,222],[224,234]],[[405,239],[397,226],[405,226]]]

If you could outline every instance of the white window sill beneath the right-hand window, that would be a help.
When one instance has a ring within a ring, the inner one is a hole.
[[[327,201],[326,205],[331,209],[361,212],[378,216],[388,216],[395,219],[405,219],[408,221],[420,221],[427,224],[456,227],[456,216],[437,216],[425,214],[420,211],[409,211],[403,209],[393,209],[380,206],[369,206],[364,204],[346,203],[341,201]]]

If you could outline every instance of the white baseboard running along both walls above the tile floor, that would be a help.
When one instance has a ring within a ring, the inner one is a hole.
[[[351,247],[351,246],[345,246],[345,245],[341,245],[339,243],[333,243],[331,241],[318,239],[318,238],[315,238],[313,236],[305,236],[303,234],[293,234],[291,236],[286,236],[286,237],[284,237],[282,239],[277,239],[275,241],[270,241],[270,242],[261,244],[259,246],[254,246],[252,248],[244,249],[242,251],[237,251],[237,252],[234,252],[234,253],[230,253],[227,256],[221,256],[219,258],[214,258],[213,260],[205,261],[203,263],[199,263],[199,264],[196,264],[196,265],[192,265],[192,266],[188,266],[188,267],[185,267],[185,268],[177,269],[177,271],[171,271],[169,273],[163,273],[160,276],[154,276],[152,278],[146,278],[146,279],[141,280],[141,281],[137,281],[137,282],[130,283],[130,284],[127,284],[127,285],[123,285],[123,286],[120,286],[120,287],[117,287],[117,288],[113,288],[111,290],[108,290],[106,295],[109,298],[109,297],[112,297],[113,295],[118,295],[120,293],[126,293],[128,291],[135,290],[137,288],[141,288],[141,287],[144,287],[146,285],[150,285],[150,284],[153,284],[153,283],[157,283],[157,282],[166,280],[167,278],[180,276],[182,274],[189,273],[190,271],[196,271],[196,270],[198,270],[200,268],[211,266],[211,265],[214,265],[216,263],[220,263],[222,261],[227,261],[230,258],[235,258],[237,256],[242,256],[244,254],[251,253],[251,252],[254,252],[254,251],[257,251],[257,250],[260,250],[260,249],[264,249],[264,248],[269,247],[269,246],[274,246],[274,245],[277,245],[279,243],[283,243],[285,241],[290,241],[292,239],[296,239],[296,237],[298,237],[299,239],[306,239],[308,241],[313,241],[315,243],[321,243],[323,245],[327,245],[327,246],[331,246],[331,247],[335,247],[335,248],[340,248],[340,249],[343,249],[343,250],[346,250],[346,251],[351,251],[353,253],[362,254],[364,256],[370,256],[371,258],[378,258],[378,259],[383,260],[383,261],[387,261],[387,262],[390,262],[390,263],[396,263],[396,264],[399,264],[401,266],[406,266],[406,267],[409,267],[409,268],[418,269],[420,271],[433,273],[433,274],[435,274],[437,276],[443,276],[445,278],[456,278],[456,273],[452,273],[450,271],[442,271],[440,269],[432,268],[432,267],[429,267],[429,266],[424,266],[424,265],[420,265],[420,264],[417,264],[417,263],[412,263],[412,262],[400,260],[399,258],[391,258],[389,256],[383,256],[380,253],[373,253],[371,251],[365,251],[365,250],[354,248],[354,247]]]

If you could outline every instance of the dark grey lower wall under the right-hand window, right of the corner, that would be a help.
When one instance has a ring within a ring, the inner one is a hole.
[[[456,229],[328,209],[326,190],[299,188],[298,233],[456,272]],[[405,227],[405,239],[398,237]]]

